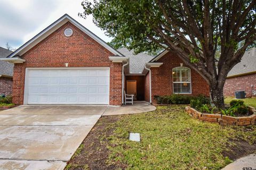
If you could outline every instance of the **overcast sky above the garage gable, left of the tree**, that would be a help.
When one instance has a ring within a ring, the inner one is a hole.
[[[0,0],[0,46],[19,48],[65,13],[106,42],[111,38],[92,22],[78,17],[82,0]]]

